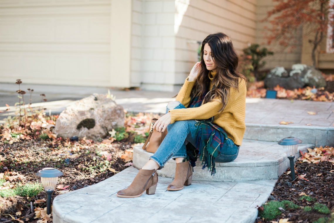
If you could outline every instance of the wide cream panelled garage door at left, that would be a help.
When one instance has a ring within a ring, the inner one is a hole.
[[[110,86],[110,0],[0,0],[0,82]]]

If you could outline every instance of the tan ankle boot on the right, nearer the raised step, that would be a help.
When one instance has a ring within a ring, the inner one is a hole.
[[[192,180],[192,167],[187,162],[176,163],[175,178],[173,182],[167,187],[169,191],[179,191],[183,189],[184,186],[191,184]]]

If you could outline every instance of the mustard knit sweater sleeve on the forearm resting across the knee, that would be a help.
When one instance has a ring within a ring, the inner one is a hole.
[[[171,123],[190,119],[208,119],[218,114],[221,109],[221,102],[218,100],[205,103],[197,108],[181,108],[169,110],[171,113]]]

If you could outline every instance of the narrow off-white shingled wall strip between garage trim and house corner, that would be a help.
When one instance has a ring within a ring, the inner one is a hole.
[[[173,91],[175,84],[175,0],[143,1],[143,89]]]

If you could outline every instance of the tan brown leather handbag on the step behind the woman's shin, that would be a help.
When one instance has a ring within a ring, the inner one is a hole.
[[[157,121],[157,118],[153,118],[150,125],[150,134],[143,145],[143,149],[147,152],[155,153],[159,148],[162,140],[164,140],[165,136],[167,135],[167,128],[164,132],[158,132],[156,129],[153,129],[154,123]]]

